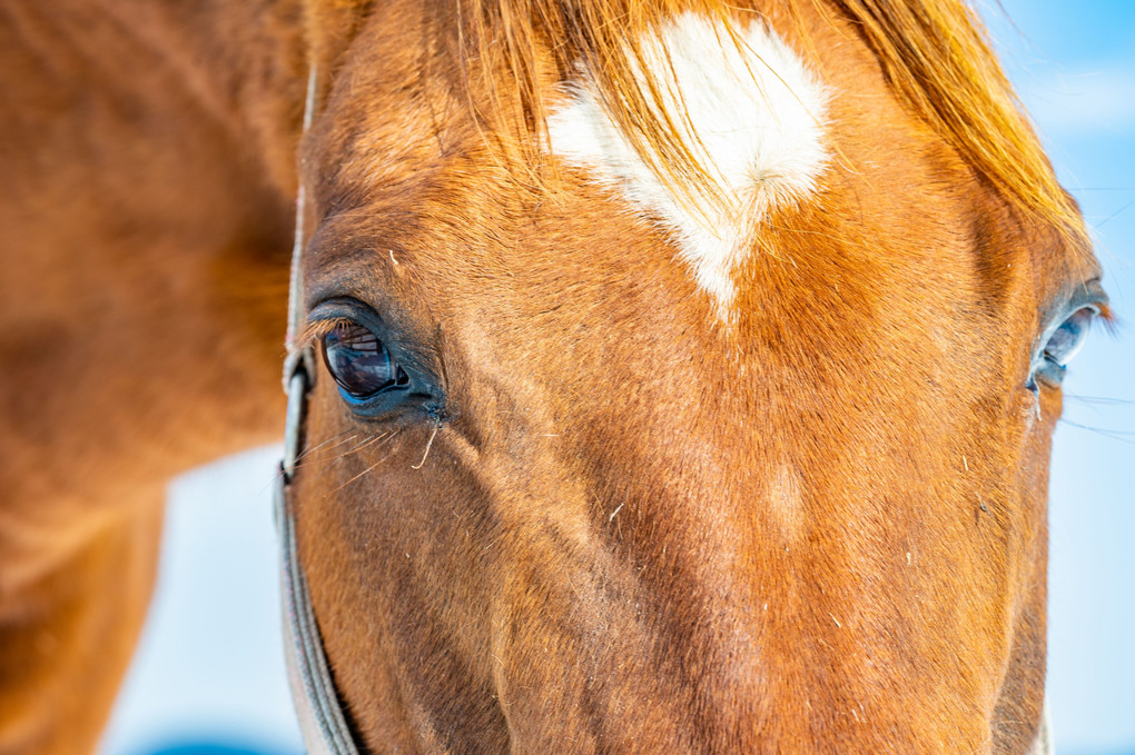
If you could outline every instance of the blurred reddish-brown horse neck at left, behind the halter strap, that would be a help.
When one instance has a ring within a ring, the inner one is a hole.
[[[9,508],[81,529],[123,491],[278,435],[303,15],[17,0],[0,16],[0,227],[27,263],[5,274],[0,330],[61,341],[0,349],[3,392],[36,397],[20,422],[42,435],[8,423],[0,483]],[[75,405],[65,382],[100,399]]]

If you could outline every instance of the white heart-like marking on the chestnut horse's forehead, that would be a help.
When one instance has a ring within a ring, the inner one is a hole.
[[[686,12],[641,42],[666,113],[728,198],[724,207],[706,200],[690,207],[674,196],[607,116],[587,71],[548,120],[553,153],[656,218],[725,320],[751,230],[773,207],[815,190],[827,162],[824,86],[764,24],[738,33],[739,44],[721,22]]]

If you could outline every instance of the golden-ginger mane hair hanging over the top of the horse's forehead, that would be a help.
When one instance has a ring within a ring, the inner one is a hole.
[[[1056,228],[1085,248],[1074,201],[1056,175],[1014,93],[984,26],[964,0],[830,0],[816,8],[849,20],[877,57],[896,94],[940,134],[1027,221]],[[667,17],[696,10],[743,44],[726,0],[457,0],[464,54],[486,82],[508,80],[507,96],[541,132],[540,80],[547,50],[560,80],[583,66],[600,101],[646,164],[680,196],[715,190],[683,129],[663,107],[640,40]],[[794,3],[789,3],[794,8]],[[799,12],[793,15],[799,18]],[[511,76],[501,77],[501,67]],[[497,76],[493,73],[496,71]],[[641,73],[646,73],[644,76]],[[490,92],[499,85],[490,84]]]

